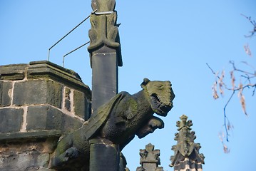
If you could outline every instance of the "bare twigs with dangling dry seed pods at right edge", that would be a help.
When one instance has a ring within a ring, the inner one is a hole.
[[[252,36],[255,36],[256,33],[256,22],[252,21],[251,17],[247,17],[243,14],[250,24],[253,26],[253,30],[250,31],[250,35],[245,35],[246,38],[252,38]],[[245,53],[247,56],[252,58],[252,51],[250,50],[249,44],[245,44]],[[225,132],[221,131],[219,134],[220,141],[223,145],[223,150],[225,153],[230,152],[228,149],[226,142],[229,142],[229,136],[230,136],[230,130],[232,130],[233,125],[230,123],[230,120],[227,118],[226,108],[227,105],[230,103],[230,100],[234,97],[235,94],[237,94],[237,97],[240,99],[240,105],[242,107],[242,111],[245,115],[248,115],[246,110],[246,101],[245,101],[245,95],[243,93],[244,90],[251,90],[252,96],[255,95],[256,90],[256,70],[255,67],[252,66],[250,63],[247,63],[247,61],[241,61],[242,66],[237,67],[237,64],[235,61],[230,61],[230,65],[232,66],[232,70],[229,71],[229,82],[225,80],[226,72],[225,70],[222,70],[220,72],[215,72],[213,68],[211,68],[208,63],[207,66],[210,68],[210,71],[215,75],[215,82],[213,83],[213,98],[216,100],[219,98],[220,95],[224,95],[225,90],[231,91],[231,95],[228,98],[227,102],[225,103],[225,106],[223,108],[223,117],[224,117],[224,123],[223,126],[225,128]],[[239,83],[236,82],[239,80]]]

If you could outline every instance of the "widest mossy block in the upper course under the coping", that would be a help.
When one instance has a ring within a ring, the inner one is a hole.
[[[52,80],[32,80],[14,84],[14,105],[49,104],[61,108],[63,86]]]

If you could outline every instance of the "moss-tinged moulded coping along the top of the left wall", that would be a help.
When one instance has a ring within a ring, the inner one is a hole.
[[[91,90],[89,86],[83,83],[78,73],[50,61],[32,61],[29,64],[0,66],[0,80],[19,81],[24,78],[28,80],[50,78],[53,81],[68,84],[68,86],[83,91],[91,99]]]

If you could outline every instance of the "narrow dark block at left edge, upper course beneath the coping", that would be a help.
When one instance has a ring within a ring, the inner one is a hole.
[[[0,81],[0,106],[11,105],[11,81]]]

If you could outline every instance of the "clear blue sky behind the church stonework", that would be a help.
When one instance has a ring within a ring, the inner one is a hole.
[[[169,80],[175,92],[174,108],[163,130],[139,140],[123,150],[130,170],[139,166],[139,149],[151,142],[160,149],[161,166],[168,167],[180,115],[193,120],[193,130],[205,155],[203,170],[252,170],[255,158],[255,96],[245,90],[247,113],[242,113],[237,95],[227,107],[234,129],[230,133],[230,153],[225,154],[218,133],[223,130],[222,108],[230,92],[214,100],[211,87],[215,71],[230,71],[229,61],[237,66],[247,61],[256,66],[256,38],[245,38],[252,25],[240,14],[256,20],[254,0],[215,1],[118,1],[118,23],[123,55],[119,68],[119,91],[135,93],[143,78]],[[91,13],[91,1],[0,0],[0,65],[29,63],[47,59],[48,48]],[[79,26],[51,50],[50,61],[62,65],[64,54],[89,41],[89,21]],[[243,46],[248,43],[252,57]],[[66,57],[66,68],[81,76],[91,87],[91,67],[86,47]],[[250,68],[248,68],[250,70]],[[226,76],[226,81],[229,81]],[[237,78],[237,83],[239,82]]]

